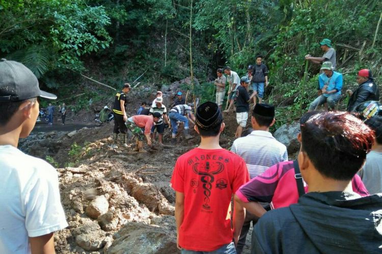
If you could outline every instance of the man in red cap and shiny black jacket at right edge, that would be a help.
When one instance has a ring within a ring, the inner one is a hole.
[[[374,83],[370,70],[360,70],[357,75],[357,83],[359,86],[356,91],[346,90],[346,93],[350,96],[346,106],[346,111],[348,112],[355,111],[358,105],[366,101],[379,101],[379,89]]]

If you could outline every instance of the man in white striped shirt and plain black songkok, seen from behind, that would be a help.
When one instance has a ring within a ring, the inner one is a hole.
[[[265,103],[257,103],[252,112],[252,128],[255,130],[250,135],[236,139],[231,151],[241,156],[250,174],[251,179],[261,175],[269,167],[283,161],[288,161],[286,146],[277,141],[269,132],[269,127],[275,123],[275,107]],[[262,203],[269,210],[268,203]],[[236,246],[236,252],[241,253],[245,245],[245,237],[251,226],[258,217],[249,213],[245,215],[244,225],[240,233],[240,239]]]

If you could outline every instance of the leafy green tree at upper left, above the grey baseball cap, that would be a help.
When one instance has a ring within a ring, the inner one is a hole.
[[[110,46],[110,18],[86,1],[2,0],[0,51],[41,77],[54,69],[83,70],[80,56]]]

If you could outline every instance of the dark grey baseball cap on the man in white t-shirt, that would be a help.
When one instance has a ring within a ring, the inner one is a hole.
[[[18,102],[35,97],[57,99],[54,94],[40,90],[36,76],[22,63],[0,59],[0,102]]]

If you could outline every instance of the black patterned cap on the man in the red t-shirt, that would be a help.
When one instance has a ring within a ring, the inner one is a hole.
[[[196,110],[196,125],[202,130],[209,130],[223,122],[219,106],[213,102],[205,102]]]

